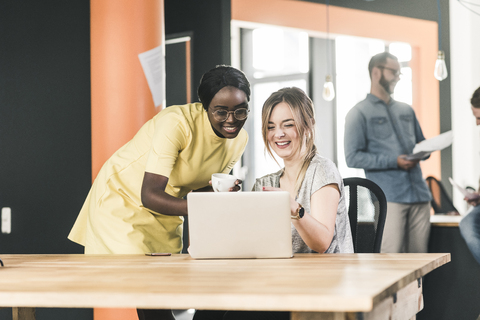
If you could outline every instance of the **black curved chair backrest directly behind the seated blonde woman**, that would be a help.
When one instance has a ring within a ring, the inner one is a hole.
[[[343,179],[355,253],[380,253],[387,199],[383,190],[364,178]]]

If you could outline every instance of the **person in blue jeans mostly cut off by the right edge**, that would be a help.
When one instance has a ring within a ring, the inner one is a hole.
[[[480,87],[473,93],[470,103],[472,104],[472,113],[477,126],[480,126]],[[465,239],[467,243],[468,249],[470,249],[475,260],[480,263],[480,194],[478,191],[474,194],[478,197],[473,200],[464,199],[468,204],[472,205],[473,208],[460,221],[459,228],[463,239]]]

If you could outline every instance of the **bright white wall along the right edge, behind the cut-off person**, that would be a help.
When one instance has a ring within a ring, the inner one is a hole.
[[[480,7],[472,7],[480,13]],[[470,109],[473,91],[480,87],[480,15],[450,0],[450,62],[453,179],[462,186],[478,188],[480,177],[480,127]],[[442,179],[445,180],[446,179]],[[466,202],[453,190],[455,207],[464,213]]]

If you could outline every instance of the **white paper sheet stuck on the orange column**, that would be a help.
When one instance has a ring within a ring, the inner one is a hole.
[[[160,45],[152,50],[142,52],[138,55],[138,58],[147,78],[153,103],[155,107],[158,107],[163,104],[165,99],[165,55],[163,46]]]

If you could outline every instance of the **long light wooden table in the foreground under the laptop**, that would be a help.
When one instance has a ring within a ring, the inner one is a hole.
[[[2,255],[0,307],[292,311],[292,319],[411,319],[421,278],[450,254],[296,254],[194,260],[189,255]],[[359,317],[360,315],[363,318]],[[387,315],[387,317],[385,317]]]

